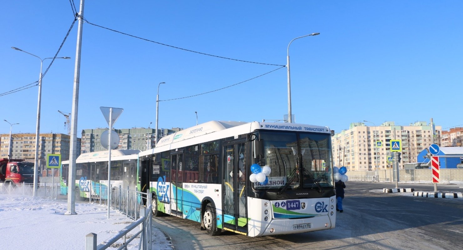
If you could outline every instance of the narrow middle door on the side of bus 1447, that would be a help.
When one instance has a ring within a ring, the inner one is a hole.
[[[171,177],[170,182],[170,211],[172,214],[181,216],[183,200],[183,152],[174,152],[170,156]]]

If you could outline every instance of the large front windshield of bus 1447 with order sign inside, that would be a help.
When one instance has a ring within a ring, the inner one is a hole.
[[[260,131],[268,183],[257,190],[319,189],[333,187],[330,134]]]

